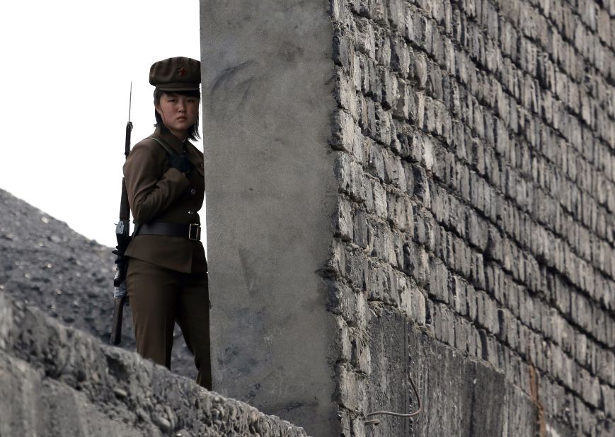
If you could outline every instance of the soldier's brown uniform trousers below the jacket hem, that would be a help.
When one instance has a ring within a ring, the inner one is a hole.
[[[207,274],[176,272],[130,258],[126,286],[137,352],[170,369],[173,327],[178,322],[195,356],[196,382],[211,390]]]

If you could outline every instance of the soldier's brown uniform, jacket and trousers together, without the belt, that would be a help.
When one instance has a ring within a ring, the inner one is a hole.
[[[173,134],[154,136],[181,153]],[[203,204],[203,155],[186,145],[195,165],[188,177],[169,166],[165,149],[153,139],[134,146],[124,165],[130,209],[137,223],[200,224]],[[171,367],[173,327],[178,322],[188,348],[195,354],[197,383],[211,388],[209,363],[209,294],[207,261],[200,241],[171,235],[137,235],[126,250],[126,278],[134,320],[137,351]]]

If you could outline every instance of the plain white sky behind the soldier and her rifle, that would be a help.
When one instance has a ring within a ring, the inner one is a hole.
[[[200,58],[199,1],[3,1],[0,40],[0,188],[115,245],[130,81],[134,145],[151,64]]]

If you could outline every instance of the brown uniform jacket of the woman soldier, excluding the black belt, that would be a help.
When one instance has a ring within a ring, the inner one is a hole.
[[[182,153],[184,144],[175,135],[163,134],[157,127],[154,136]],[[195,165],[188,177],[171,168],[168,153],[153,139],[146,138],[132,148],[124,164],[124,177],[135,226],[153,221],[200,224],[197,211],[205,195],[203,153],[188,141],[185,146]],[[137,235],[128,245],[126,255],[178,272],[207,272],[202,243],[188,238]]]

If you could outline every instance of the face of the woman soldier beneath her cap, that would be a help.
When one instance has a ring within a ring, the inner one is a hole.
[[[199,99],[190,95],[163,93],[156,111],[168,130],[180,139],[184,139],[188,129],[199,117]]]

